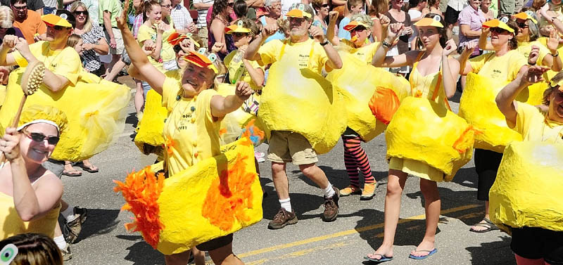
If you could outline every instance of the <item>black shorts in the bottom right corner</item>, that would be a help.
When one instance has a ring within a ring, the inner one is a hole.
[[[563,265],[563,232],[538,227],[512,228],[512,252],[526,259]]]

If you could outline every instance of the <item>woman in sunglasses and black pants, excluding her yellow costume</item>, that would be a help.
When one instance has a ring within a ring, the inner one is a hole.
[[[517,51],[516,34],[518,26],[514,20],[502,17],[500,20],[495,19],[483,22],[481,39],[486,39],[488,32],[491,32],[492,52],[469,59],[476,44],[467,44],[460,58],[458,58],[461,65],[460,74],[467,75],[469,72],[475,72],[477,75],[488,77],[498,82],[511,82],[526,71],[526,64],[528,62],[524,55]],[[482,87],[480,89],[492,88]],[[470,231],[484,233],[498,229],[489,219],[488,193],[495,182],[502,153],[475,148],[474,159],[475,170],[479,176],[477,199],[485,201],[485,216],[482,221],[472,226]]]

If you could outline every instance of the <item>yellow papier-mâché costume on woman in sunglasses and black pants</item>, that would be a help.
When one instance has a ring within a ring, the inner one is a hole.
[[[474,73],[469,73],[466,80],[460,99],[460,117],[481,131],[475,136],[474,147],[502,153],[508,143],[522,141],[522,136],[507,126],[495,101],[508,82],[495,82]]]

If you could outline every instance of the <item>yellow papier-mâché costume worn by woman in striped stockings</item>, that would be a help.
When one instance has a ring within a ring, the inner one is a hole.
[[[369,100],[378,88],[391,89],[403,100],[410,94],[409,82],[391,72],[366,65],[346,51],[339,52],[344,67],[329,72],[327,79],[343,95],[348,127],[360,134],[363,141],[371,141],[381,134],[387,124],[376,119],[369,109]]]

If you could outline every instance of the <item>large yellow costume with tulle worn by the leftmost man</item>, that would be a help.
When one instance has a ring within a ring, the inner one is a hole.
[[[9,77],[6,100],[0,110],[0,129],[11,123],[23,91],[20,87],[25,67]],[[63,131],[51,158],[82,161],[106,150],[125,129],[125,115],[131,93],[125,85],[115,84],[82,71],[76,84],[53,92],[44,84],[27,96],[25,106],[48,105],[65,112],[68,129]],[[25,108],[25,107],[24,107]]]

